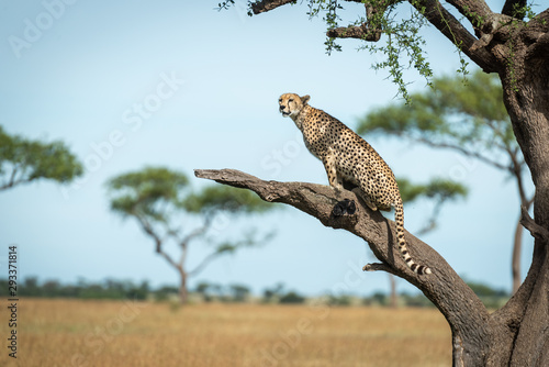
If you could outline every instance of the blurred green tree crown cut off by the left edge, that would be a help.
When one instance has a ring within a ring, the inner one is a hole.
[[[63,142],[9,135],[0,126],[0,191],[40,179],[66,184],[82,173],[82,165]]]

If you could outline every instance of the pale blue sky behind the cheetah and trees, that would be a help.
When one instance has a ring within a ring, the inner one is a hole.
[[[194,168],[327,184],[292,121],[278,113],[278,97],[309,93],[312,105],[351,127],[368,110],[394,101],[396,87],[385,71],[371,69],[377,57],[358,52],[359,43],[341,41],[343,53],[325,54],[324,24],[309,20],[305,7],[248,18],[244,1],[223,12],[213,10],[217,2],[0,1],[0,124],[12,134],[65,141],[87,168],[66,187],[43,181],[0,192],[0,265],[8,245],[18,244],[22,277],[175,285],[177,274],[154,254],[152,241],[109,211],[107,179],[163,165],[188,174],[194,187],[209,185],[193,178]],[[452,46],[433,29],[425,34],[436,75],[453,73]],[[425,88],[414,74],[407,77],[416,80],[411,90]],[[518,218],[513,184],[452,153],[391,138],[370,143],[396,176],[451,177],[471,188],[423,240],[467,279],[509,289]],[[406,205],[406,229],[419,229],[428,209]],[[232,223],[233,231],[242,227]],[[257,292],[282,281],[307,294],[388,288],[385,274],[357,270],[373,256],[351,234],[292,208],[250,223],[276,230],[276,238],[217,259],[191,288],[199,280],[246,283]],[[197,243],[189,263],[208,252]],[[525,235],[524,273],[530,256]],[[413,289],[404,281],[399,287]]]

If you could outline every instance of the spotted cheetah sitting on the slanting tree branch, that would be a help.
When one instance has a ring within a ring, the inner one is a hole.
[[[307,104],[310,96],[284,93],[279,99],[282,116],[290,116],[303,133],[307,149],[324,164],[329,186],[336,192],[344,184],[352,185],[371,210],[390,211],[394,207],[394,221],[399,249],[410,269],[418,275],[430,274],[410,256],[404,238],[404,209],[393,171],[362,137],[328,113]]]

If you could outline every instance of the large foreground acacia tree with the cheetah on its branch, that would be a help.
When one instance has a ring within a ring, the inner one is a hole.
[[[249,1],[249,12],[259,14],[295,0]],[[384,53],[392,79],[406,98],[401,55],[407,65],[429,78],[430,69],[422,51],[421,27],[435,26],[460,54],[484,73],[497,74],[503,101],[513,132],[531,175],[536,193],[534,218],[526,210],[522,223],[535,236],[528,275],[518,291],[496,312],[489,313],[474,292],[433,248],[406,234],[418,263],[433,275],[418,277],[410,271],[395,249],[394,225],[378,212],[359,207],[351,215],[334,216],[341,199],[356,200],[350,192],[336,196],[328,187],[311,184],[266,182],[234,170],[197,174],[223,184],[245,187],[267,201],[285,202],[317,218],[325,225],[343,227],[365,238],[381,260],[367,270],[382,269],[405,278],[419,288],[446,316],[452,332],[456,366],[548,366],[549,365],[549,9],[533,13],[526,0],[506,0],[497,12],[484,0],[309,0],[309,13],[324,12],[328,23],[328,49],[336,38],[357,38],[371,51]],[[341,3],[358,12],[355,23],[339,26]],[[220,8],[234,0],[220,3]],[[355,3],[355,4],[352,4]],[[412,15],[396,18],[405,5]],[[459,18],[455,14],[459,13]],[[526,19],[526,20],[525,20]],[[472,29],[473,33],[469,31]],[[374,42],[384,40],[382,46]],[[369,42],[372,42],[369,44]],[[450,47],[450,45],[449,45]],[[407,57],[407,58],[406,58]],[[474,238],[471,238],[474,241]],[[473,255],[472,255],[473,256]]]

